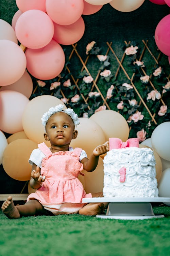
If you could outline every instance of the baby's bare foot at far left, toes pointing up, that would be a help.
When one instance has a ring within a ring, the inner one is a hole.
[[[2,212],[10,219],[20,218],[19,211],[17,207],[14,205],[12,200],[12,196],[9,196],[5,202],[2,204]]]

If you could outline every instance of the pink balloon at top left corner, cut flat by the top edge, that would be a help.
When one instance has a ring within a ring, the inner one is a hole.
[[[33,9],[46,12],[46,0],[16,0],[16,5],[22,12]]]

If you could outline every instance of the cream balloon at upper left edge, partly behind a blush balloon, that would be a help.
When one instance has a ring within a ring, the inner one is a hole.
[[[0,31],[0,40],[6,39],[18,44],[13,27],[3,19],[0,19]]]

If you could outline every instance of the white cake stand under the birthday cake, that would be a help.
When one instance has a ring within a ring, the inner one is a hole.
[[[92,197],[83,198],[83,203],[108,203],[105,215],[96,215],[103,219],[150,219],[164,218],[164,215],[153,213],[151,202],[164,202],[170,204],[169,197],[147,197],[147,198],[106,198]]]

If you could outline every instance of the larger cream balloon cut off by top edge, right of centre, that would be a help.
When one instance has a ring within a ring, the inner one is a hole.
[[[109,4],[120,12],[132,12],[138,9],[145,0],[113,0]]]

